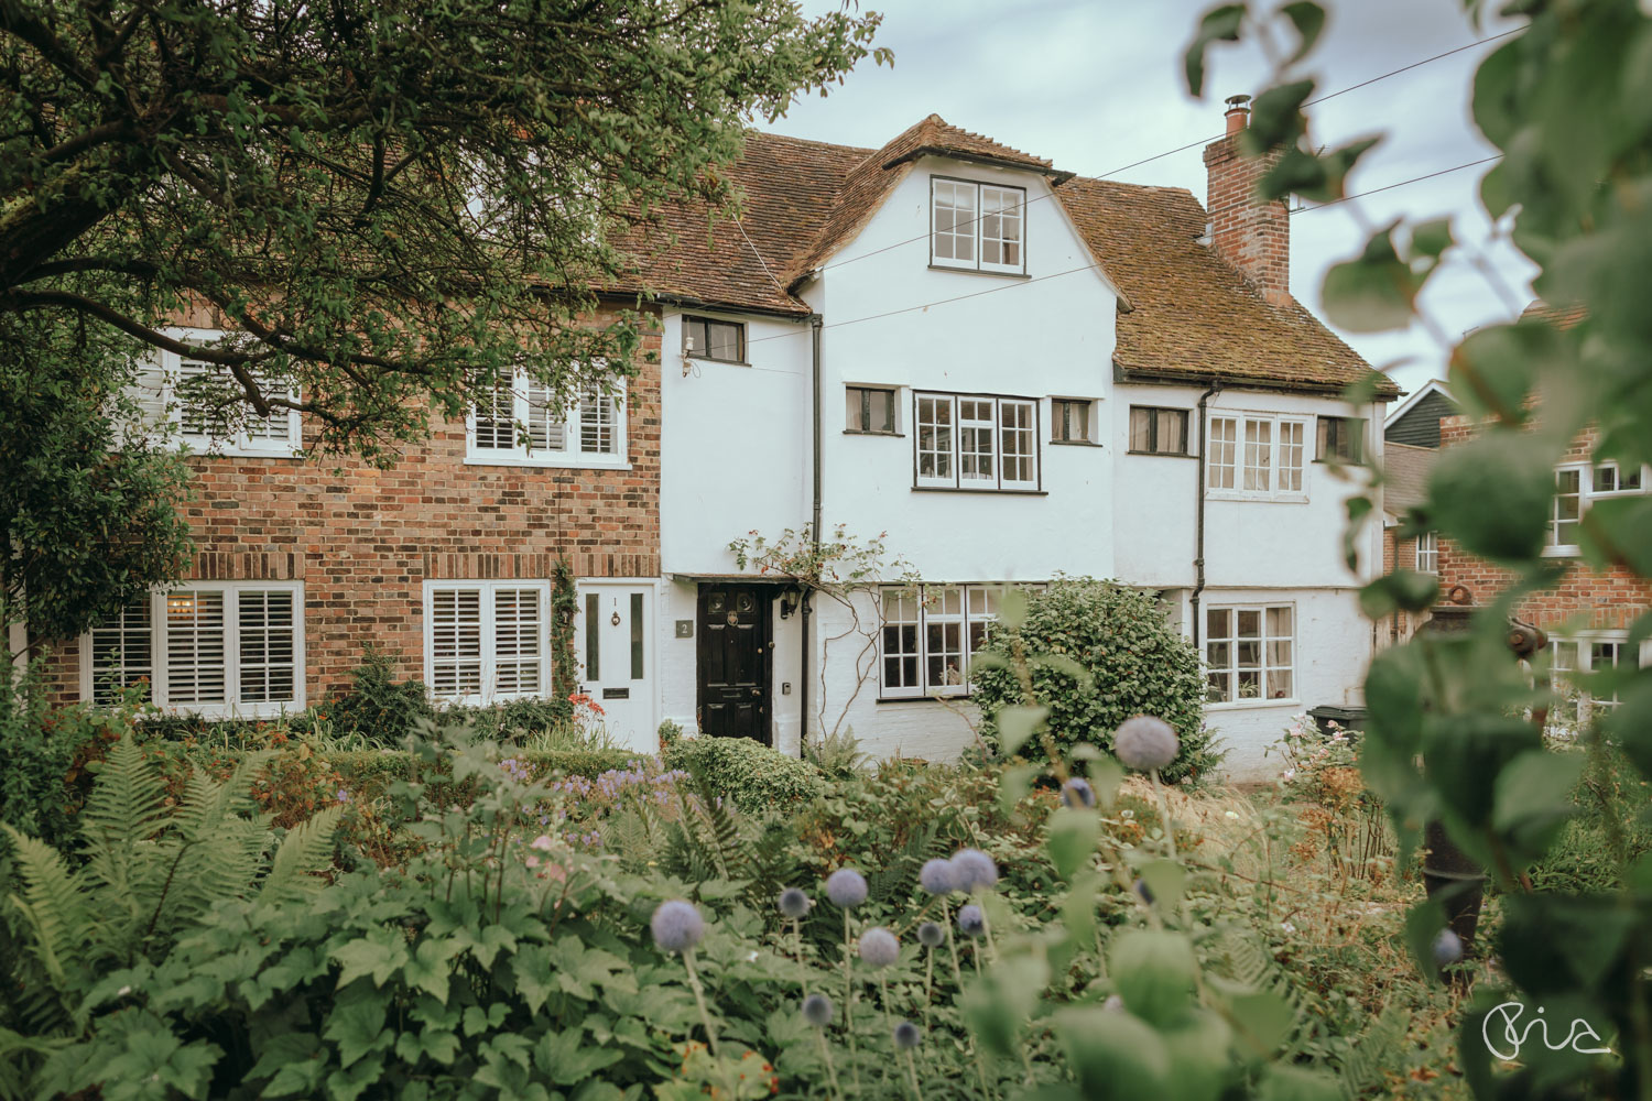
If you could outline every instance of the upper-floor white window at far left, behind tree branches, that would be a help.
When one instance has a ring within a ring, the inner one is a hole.
[[[192,345],[211,345],[225,337],[208,328],[172,328],[167,335]],[[297,401],[297,390],[276,388],[259,368],[249,368],[264,396]],[[296,457],[304,449],[304,423],[297,409],[273,408],[258,416],[246,404],[241,383],[230,368],[177,352],[152,350],[137,373],[134,399],[140,424],[135,431],[175,439],[193,451],[223,456]]]

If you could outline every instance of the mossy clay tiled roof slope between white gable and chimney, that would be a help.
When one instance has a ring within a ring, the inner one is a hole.
[[[1113,353],[1125,378],[1340,390],[1371,370],[1300,302],[1270,304],[1199,244],[1206,216],[1189,191],[1080,177],[1056,195],[1133,307]]]

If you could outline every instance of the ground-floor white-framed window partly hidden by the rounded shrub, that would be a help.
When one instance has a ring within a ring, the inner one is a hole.
[[[914,584],[881,593],[879,698],[970,692],[970,664],[998,621],[1006,584]],[[1034,591],[1037,584],[1023,584]]]

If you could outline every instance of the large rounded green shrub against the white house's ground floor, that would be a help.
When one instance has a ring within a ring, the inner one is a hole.
[[[1069,751],[1090,743],[1112,749],[1113,730],[1132,715],[1156,715],[1176,728],[1181,753],[1160,776],[1166,782],[1209,771],[1219,759],[1203,730],[1204,677],[1199,655],[1165,619],[1150,593],[1115,581],[1059,578],[1034,594],[1026,619],[993,631],[986,652],[1004,662],[1031,659],[1032,692],[1049,706],[1049,735]],[[1054,655],[1056,660],[1039,660]],[[1084,687],[1070,664],[1094,678]],[[1023,703],[1013,669],[986,665],[975,673],[983,736],[996,744],[999,708]]]

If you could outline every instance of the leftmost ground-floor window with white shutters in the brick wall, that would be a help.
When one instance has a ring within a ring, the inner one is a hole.
[[[304,710],[304,584],[183,581],[81,636],[81,697],[147,685],[167,711],[266,718]]]

